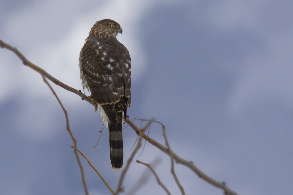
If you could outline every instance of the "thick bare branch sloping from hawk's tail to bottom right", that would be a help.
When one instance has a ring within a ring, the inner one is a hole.
[[[139,128],[131,121],[129,120],[128,117],[126,117],[125,122],[127,124],[129,124],[129,126],[135,131],[135,132],[139,132]],[[160,144],[159,142],[157,142],[156,140],[152,139],[151,137],[147,136],[144,132],[139,132],[138,133],[139,136],[141,136],[143,139],[145,139],[146,141],[148,141],[150,144],[154,145],[156,148],[159,148],[162,152],[164,152],[165,154],[167,154],[168,156],[170,155],[168,148],[166,148],[165,146],[163,146],[162,144]],[[184,165],[186,167],[188,167],[189,169],[191,169],[199,178],[203,179],[204,181],[208,182],[209,184],[220,188],[224,191],[225,195],[237,195],[236,192],[234,192],[233,190],[231,190],[225,182],[220,182],[217,180],[214,180],[213,178],[209,177],[208,175],[206,175],[205,173],[203,173],[200,169],[198,169],[192,161],[187,161],[184,160],[182,158],[180,158],[179,156],[177,156],[174,152],[171,152],[173,154],[174,160],[176,161],[177,164],[181,164]]]

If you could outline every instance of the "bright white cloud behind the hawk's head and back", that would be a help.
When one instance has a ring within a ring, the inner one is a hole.
[[[144,51],[139,41],[140,32],[144,29],[141,29],[143,25],[138,21],[157,2],[113,0],[88,8],[91,3],[93,2],[37,1],[23,10],[7,14],[4,36],[2,35],[1,39],[17,47],[32,63],[42,67],[61,82],[81,89],[78,69],[80,49],[93,24],[97,20],[111,18],[122,26],[124,33],[119,34],[117,38],[130,51],[131,76],[133,80],[138,79],[145,67]],[[84,11],[85,9],[88,11]],[[7,65],[14,63],[17,67],[22,66],[16,56],[10,56],[8,59],[2,55],[1,58]],[[6,72],[1,78],[2,83],[11,80],[9,85],[0,88],[5,91],[0,97],[2,100],[18,88],[18,82],[33,83],[39,79],[31,70],[25,73],[28,75],[23,75],[21,68],[13,72],[9,71],[9,66],[1,68]],[[42,96],[39,90],[43,89],[43,84],[38,87],[41,89],[28,88],[28,92],[38,91]]]

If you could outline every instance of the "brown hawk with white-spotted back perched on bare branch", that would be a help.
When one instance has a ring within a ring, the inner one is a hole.
[[[83,88],[93,94],[101,118],[109,128],[110,160],[113,170],[123,164],[122,124],[130,107],[130,55],[116,39],[121,26],[110,19],[97,21],[79,55]]]

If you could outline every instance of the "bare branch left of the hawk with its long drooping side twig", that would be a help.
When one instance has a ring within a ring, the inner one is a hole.
[[[63,87],[64,89],[68,90],[68,91],[72,91],[73,93],[76,93],[77,95],[79,95],[81,93],[81,91],[77,91],[76,89],[72,88],[72,87],[69,87],[67,85],[65,85],[64,83],[61,83],[60,81],[58,81],[57,79],[55,79],[54,77],[52,77],[51,75],[49,75],[46,71],[44,71],[43,69],[41,69],[40,67],[36,66],[35,64],[31,63],[30,61],[28,61],[24,55],[22,53],[20,53],[16,48],[14,47],[11,47],[10,45],[4,43],[2,40],[0,40],[0,47],[1,48],[6,48],[10,51],[13,51],[22,61],[23,61],[23,64],[28,66],[28,67],[31,67],[32,69],[34,69],[35,71],[39,72],[42,77],[43,77],[43,80],[44,82],[48,85],[48,87],[51,89],[52,93],[55,95],[56,99],[58,100],[63,112],[64,112],[64,115],[65,115],[65,118],[66,118],[66,129],[67,131],[69,132],[70,136],[71,136],[71,139],[73,141],[73,144],[74,144],[74,147],[76,148],[76,139],[74,138],[70,128],[69,128],[69,120],[68,120],[68,115],[67,115],[67,111],[65,110],[63,104],[61,103],[60,99],[58,98],[57,94],[55,93],[55,91],[53,90],[52,86],[48,83],[47,79],[48,78],[49,80],[51,80],[53,83],[55,83],[56,85],[59,85],[60,87]],[[73,90],[72,90],[73,89]],[[81,93],[83,94],[83,93]],[[84,95],[84,94],[83,94]],[[86,95],[85,96],[85,100],[89,99],[89,97],[87,97]],[[92,102],[92,100],[90,100]],[[91,103],[92,104],[92,103]],[[74,151],[75,153],[75,156],[76,156],[76,159],[77,159],[77,162],[78,162],[78,165],[79,165],[79,168],[80,168],[80,172],[81,172],[81,178],[82,178],[82,184],[84,186],[84,190],[85,190],[85,194],[88,195],[89,192],[88,192],[88,189],[86,187],[86,183],[85,183],[85,175],[84,175],[84,171],[83,171],[83,167],[80,163],[80,159],[79,159],[79,156],[78,154],[76,153],[76,150]]]

